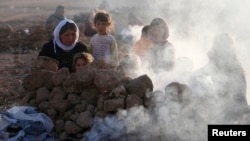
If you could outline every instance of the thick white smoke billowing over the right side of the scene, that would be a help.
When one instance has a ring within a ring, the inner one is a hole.
[[[121,6],[127,3],[129,2],[110,1],[110,6],[114,8],[116,4]],[[247,0],[240,3],[236,0],[146,1],[144,4],[148,4],[149,9],[143,9],[143,12],[140,11],[142,7],[139,0],[131,1],[129,4],[139,7],[138,13],[144,16],[144,21],[147,23],[155,17],[167,21],[170,28],[169,41],[176,51],[175,67],[167,72],[155,73],[147,67],[146,62],[141,62],[138,75],[147,74],[152,79],[154,92],[147,95],[154,99],[154,105],[148,109],[134,107],[121,110],[115,116],[96,119],[97,122],[94,122],[91,131],[84,135],[84,140],[200,141],[207,140],[208,124],[239,123],[240,121],[235,120],[235,118],[240,120],[240,117],[235,117],[239,113],[232,112],[231,109],[242,111],[241,107],[238,107],[237,103],[232,105],[228,103],[232,102],[231,99],[237,99],[231,93],[238,93],[237,88],[243,83],[240,80],[228,79],[223,73],[213,74],[217,78],[213,80],[204,74],[195,76],[194,72],[208,64],[207,52],[213,47],[215,35],[227,32],[236,41],[236,55],[245,71],[246,82],[250,83],[250,63],[247,61],[250,52],[247,48],[250,45],[247,38],[250,28],[246,18],[250,16],[247,12],[249,2]],[[134,30],[136,31],[132,33],[140,33],[139,29]],[[193,83],[190,79],[194,76],[196,80]],[[219,85],[225,81],[233,82],[235,87]],[[165,88],[171,82],[190,86],[192,90],[192,94],[189,95],[190,102],[182,104],[169,100],[169,93]],[[231,93],[217,95],[217,92],[227,91]],[[249,88],[247,99],[250,100]]]

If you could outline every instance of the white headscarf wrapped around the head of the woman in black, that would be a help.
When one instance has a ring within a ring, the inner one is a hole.
[[[76,40],[75,42],[71,45],[71,46],[66,46],[64,45],[61,40],[60,40],[60,34],[59,32],[61,31],[61,28],[66,24],[66,23],[73,23],[76,25],[76,23],[72,20],[69,19],[65,19],[59,22],[59,24],[55,27],[54,29],[54,52],[56,53],[56,44],[58,45],[58,47],[60,47],[62,50],[64,51],[70,51],[73,48],[75,48],[76,42],[78,41],[79,38],[79,29],[76,25]]]

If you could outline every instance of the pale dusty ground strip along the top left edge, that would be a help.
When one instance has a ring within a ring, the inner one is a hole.
[[[26,20],[29,22],[28,18],[34,16],[47,18],[59,4],[64,5],[65,16],[69,18],[76,13],[90,9],[85,8],[88,7],[85,0],[74,0],[73,2],[66,0],[1,0],[0,21]]]

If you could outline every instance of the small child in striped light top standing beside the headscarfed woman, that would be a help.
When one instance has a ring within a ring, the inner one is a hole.
[[[97,33],[90,39],[88,50],[96,61],[104,61],[117,68],[119,65],[118,48],[115,38],[109,34],[112,27],[111,16],[99,11],[94,16]]]

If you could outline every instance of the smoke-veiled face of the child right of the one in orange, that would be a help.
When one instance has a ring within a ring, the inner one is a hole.
[[[158,25],[152,26],[150,28],[150,30],[149,30],[150,39],[154,43],[162,42],[163,41],[163,35],[164,35],[164,30]]]

